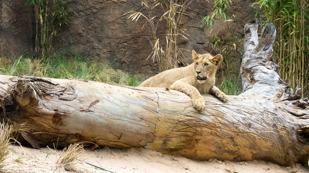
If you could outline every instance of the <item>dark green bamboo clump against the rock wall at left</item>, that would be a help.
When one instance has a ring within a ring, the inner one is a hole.
[[[67,0],[27,0],[34,7],[36,20],[36,58],[49,56],[53,49],[53,37],[57,36],[61,25],[69,23],[74,14],[68,10]]]

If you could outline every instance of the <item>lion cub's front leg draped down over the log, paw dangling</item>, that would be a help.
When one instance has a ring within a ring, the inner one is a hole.
[[[189,95],[192,98],[193,107],[195,107],[198,111],[201,111],[205,108],[205,102],[200,92],[198,92],[194,86],[188,84],[187,79],[183,78],[174,82],[170,88],[172,90],[178,90]]]

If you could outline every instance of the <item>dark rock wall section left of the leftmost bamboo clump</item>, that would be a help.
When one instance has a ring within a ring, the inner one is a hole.
[[[18,56],[34,47],[33,9],[22,0],[0,0],[0,56]]]

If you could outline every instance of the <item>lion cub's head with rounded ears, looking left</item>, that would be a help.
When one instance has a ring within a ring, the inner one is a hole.
[[[199,83],[204,83],[208,77],[214,76],[223,59],[221,54],[213,57],[210,54],[198,54],[194,50],[192,50],[192,58],[196,72],[195,77]]]

